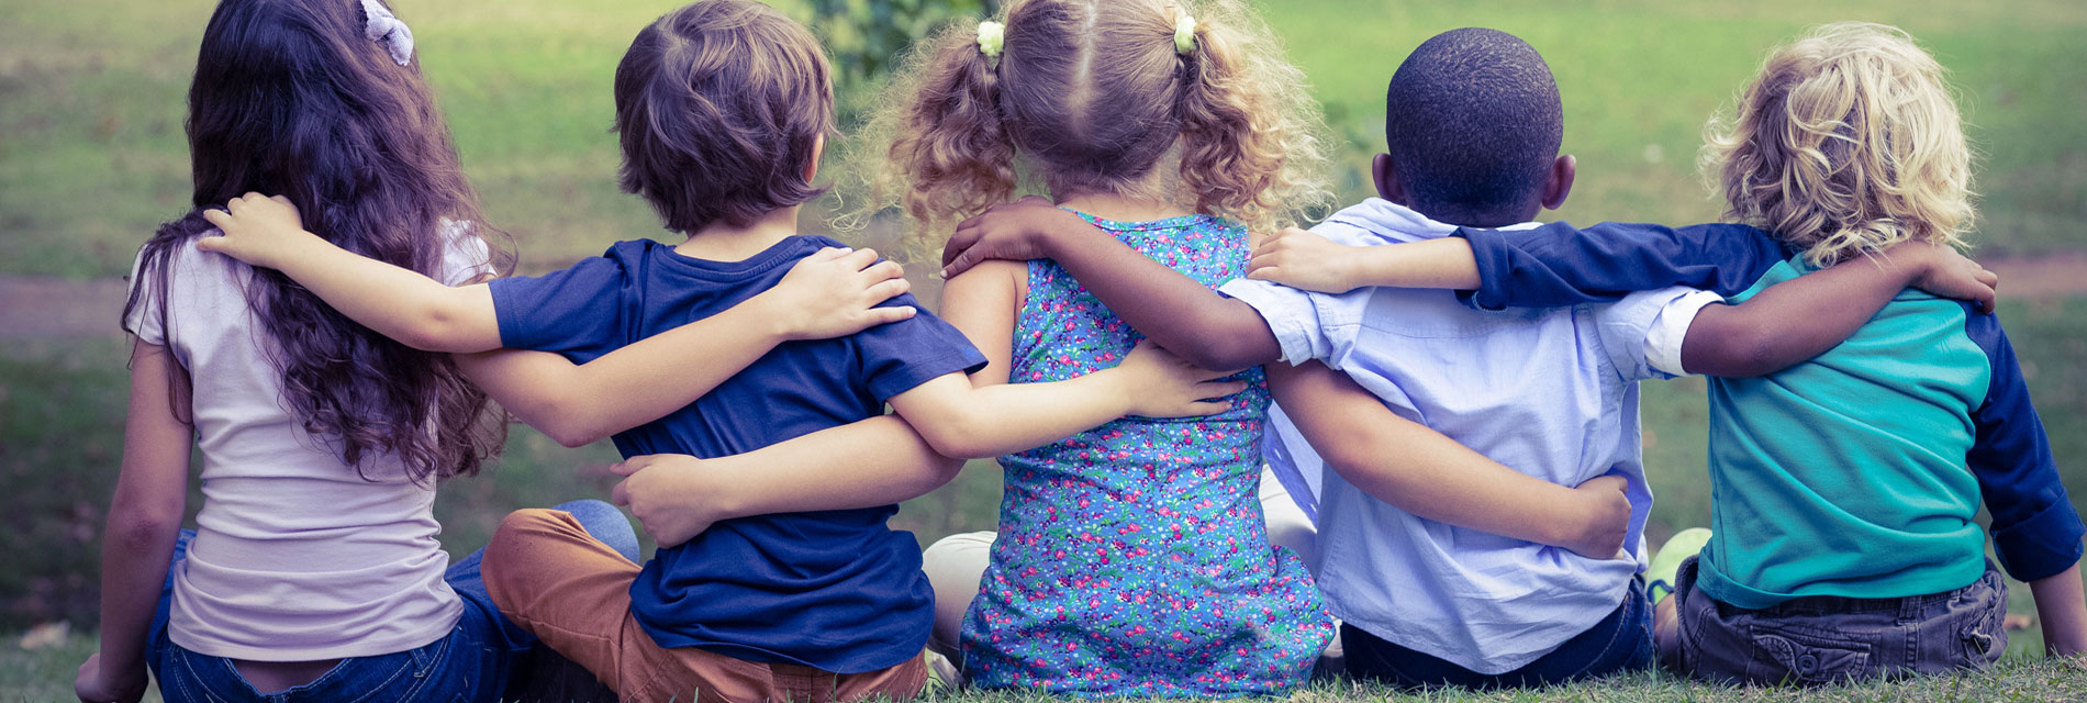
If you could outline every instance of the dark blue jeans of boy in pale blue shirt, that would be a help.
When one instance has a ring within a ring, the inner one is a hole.
[[[1342,624],[1340,645],[1348,653],[1348,674],[1373,678],[1405,688],[1421,686],[1465,686],[1465,688],[1513,688],[1546,686],[1578,678],[1609,676],[1630,670],[1653,668],[1653,607],[1645,601],[1645,584],[1630,582],[1624,605],[1603,617],[1586,632],[1553,649],[1549,655],[1507,674],[1480,674],[1386,643],[1361,628]]]

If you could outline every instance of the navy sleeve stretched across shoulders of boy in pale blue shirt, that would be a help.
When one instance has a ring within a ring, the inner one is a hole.
[[[1732,296],[1789,259],[1768,232],[1726,223],[1576,229],[1555,221],[1536,229],[1459,227],[1457,236],[1471,242],[1484,282],[1457,296],[1486,311],[1609,302],[1668,286]]]

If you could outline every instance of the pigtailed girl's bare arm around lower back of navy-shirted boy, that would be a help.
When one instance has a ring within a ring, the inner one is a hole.
[[[883,415],[720,459],[630,457],[611,467],[626,476],[611,499],[630,507],[659,547],[674,547],[720,519],[902,503],[941,488],[962,467],[906,419]]]

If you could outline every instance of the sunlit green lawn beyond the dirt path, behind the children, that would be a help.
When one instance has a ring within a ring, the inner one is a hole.
[[[674,2],[407,2],[422,65],[495,223],[547,269],[657,232],[616,192],[609,77]],[[781,2],[795,6],[791,2]],[[0,0],[0,273],[121,275],[154,223],[186,209],[184,92],[207,0]],[[803,15],[803,13],[799,13]],[[1384,83],[1428,35],[1513,31],[1544,52],[1580,156],[1576,221],[1703,221],[1695,177],[1703,121],[1761,54],[1807,25],[1870,19],[1914,31],[1953,71],[1981,146],[1983,242],[2081,246],[2087,215],[2087,4],[2064,0],[1862,0],[1749,4],[1613,0],[1271,2],[1269,21],[1317,86],[1367,194],[1382,148]],[[1657,152],[1657,159],[1653,159]]]

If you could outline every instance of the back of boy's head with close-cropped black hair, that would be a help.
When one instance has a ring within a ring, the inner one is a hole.
[[[1440,221],[1521,219],[1565,140],[1551,65],[1498,29],[1421,42],[1384,102],[1384,140],[1407,204]]]

